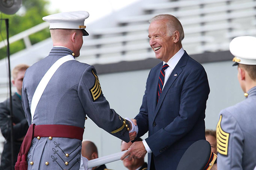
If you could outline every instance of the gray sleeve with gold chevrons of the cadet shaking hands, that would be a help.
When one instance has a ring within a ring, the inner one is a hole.
[[[129,142],[130,124],[110,108],[108,101],[102,94],[96,70],[89,66],[83,73],[78,88],[79,99],[87,116],[96,125],[112,134],[113,136]],[[127,125],[127,127],[125,126]]]

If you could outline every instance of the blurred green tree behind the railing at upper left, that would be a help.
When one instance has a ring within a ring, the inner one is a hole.
[[[23,6],[14,15],[1,13],[1,18],[9,18],[9,37],[36,26],[42,22],[42,17],[49,15],[47,10],[48,0],[23,0]],[[0,41],[6,39],[6,27],[4,21],[0,21]],[[32,44],[50,37],[49,29],[46,28],[29,36]],[[25,48],[23,40],[10,44],[10,54],[14,54]],[[0,59],[6,57],[6,47],[0,49]]]

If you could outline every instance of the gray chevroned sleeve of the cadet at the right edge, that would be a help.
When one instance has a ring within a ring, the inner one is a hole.
[[[221,111],[217,128],[219,170],[241,170],[244,135],[237,120],[226,110]],[[224,136],[228,136],[226,139]]]

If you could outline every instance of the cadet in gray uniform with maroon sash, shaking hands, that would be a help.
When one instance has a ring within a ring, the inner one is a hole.
[[[95,68],[74,59],[80,55],[83,36],[88,35],[84,30],[87,17],[86,11],[76,11],[43,18],[50,23],[54,47],[49,56],[26,71],[23,80],[22,104],[30,125],[24,141],[29,143],[29,138],[32,138],[32,142],[29,149],[23,142],[15,170],[23,166],[28,166],[28,170],[79,170],[86,116],[113,136],[130,141],[131,125],[110,108],[102,94]],[[38,84],[45,83],[41,79],[47,77],[52,65],[64,56],[71,57],[71,60],[55,69],[41,97],[39,92],[35,94],[43,87]],[[33,100],[36,97],[39,102],[35,107]],[[34,116],[31,115],[33,107]],[[24,161],[26,154],[27,160]],[[23,165],[26,161],[28,165]]]

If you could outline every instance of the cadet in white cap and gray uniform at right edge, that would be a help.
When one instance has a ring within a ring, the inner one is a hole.
[[[256,37],[236,37],[230,52],[246,99],[222,110],[216,128],[218,170],[253,170],[256,165]]]

